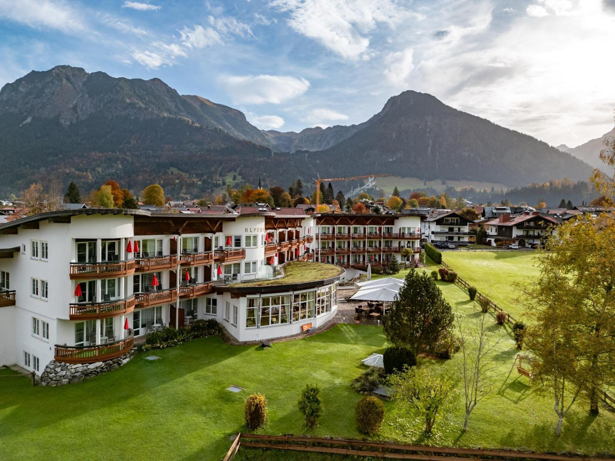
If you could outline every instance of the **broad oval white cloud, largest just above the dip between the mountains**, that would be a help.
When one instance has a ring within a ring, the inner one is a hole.
[[[281,104],[309,88],[306,79],[276,75],[226,76],[221,82],[234,101],[245,104]]]

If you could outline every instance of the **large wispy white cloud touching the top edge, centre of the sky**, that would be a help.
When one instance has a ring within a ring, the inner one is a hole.
[[[269,6],[288,12],[293,30],[348,60],[370,57],[369,34],[378,25],[394,28],[423,17],[392,0],[274,0]]]

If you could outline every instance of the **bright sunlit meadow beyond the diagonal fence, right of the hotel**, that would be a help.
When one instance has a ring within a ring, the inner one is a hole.
[[[510,315],[525,317],[525,307],[516,301],[515,283],[538,277],[533,251],[445,251],[442,261]]]

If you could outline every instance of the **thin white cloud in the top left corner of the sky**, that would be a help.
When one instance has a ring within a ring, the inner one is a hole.
[[[0,18],[33,28],[50,28],[71,34],[87,29],[81,12],[63,1],[0,0]]]

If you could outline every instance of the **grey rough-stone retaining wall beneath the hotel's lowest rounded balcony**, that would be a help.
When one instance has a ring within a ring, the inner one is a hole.
[[[85,378],[121,367],[128,363],[133,355],[133,350],[130,350],[122,357],[95,363],[62,363],[52,360],[41,373],[39,384],[41,386],[62,386],[81,382]]]

